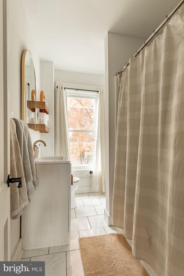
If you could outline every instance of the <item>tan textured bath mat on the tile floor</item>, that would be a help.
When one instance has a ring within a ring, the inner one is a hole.
[[[79,238],[85,276],[148,276],[122,234]]]

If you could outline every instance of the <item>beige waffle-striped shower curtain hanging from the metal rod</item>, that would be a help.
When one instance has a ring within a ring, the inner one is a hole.
[[[158,276],[182,276],[184,7],[119,78],[112,224]]]

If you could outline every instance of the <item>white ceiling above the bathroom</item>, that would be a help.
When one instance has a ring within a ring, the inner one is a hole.
[[[108,32],[146,40],[179,0],[22,0],[40,59],[105,74]]]

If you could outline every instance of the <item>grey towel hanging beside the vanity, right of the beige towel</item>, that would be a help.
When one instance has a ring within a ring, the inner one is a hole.
[[[29,199],[34,194],[34,190],[38,187],[34,162],[34,151],[32,148],[32,141],[28,125],[26,124],[26,122],[20,119],[13,119],[16,122],[17,126],[17,138],[20,146],[20,155],[22,158]]]

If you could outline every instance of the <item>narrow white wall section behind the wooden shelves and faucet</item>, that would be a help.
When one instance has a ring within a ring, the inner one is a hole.
[[[41,89],[45,93],[45,99],[49,107],[49,133],[41,133],[41,140],[46,143],[46,147],[41,143],[41,155],[54,155],[54,67],[51,61],[41,61]]]

